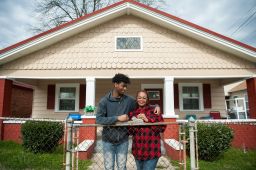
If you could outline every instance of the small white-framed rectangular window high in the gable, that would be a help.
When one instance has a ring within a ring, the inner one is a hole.
[[[116,51],[141,51],[142,37],[116,37]]]

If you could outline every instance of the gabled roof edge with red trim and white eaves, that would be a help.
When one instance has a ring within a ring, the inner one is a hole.
[[[256,48],[133,0],[124,0],[0,50],[0,64],[40,50],[122,15],[134,15],[256,62]]]

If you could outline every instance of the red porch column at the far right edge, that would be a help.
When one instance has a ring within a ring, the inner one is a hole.
[[[249,118],[256,119],[256,78],[246,80],[249,102]]]

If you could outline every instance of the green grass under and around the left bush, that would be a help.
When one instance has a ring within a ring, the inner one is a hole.
[[[80,169],[87,169],[90,160],[79,161]],[[27,152],[20,144],[14,142],[0,142],[0,169],[63,169],[63,148],[59,146],[53,153],[34,154]]]

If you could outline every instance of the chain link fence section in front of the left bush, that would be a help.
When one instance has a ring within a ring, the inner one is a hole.
[[[0,169],[64,169],[64,120],[0,117]]]

